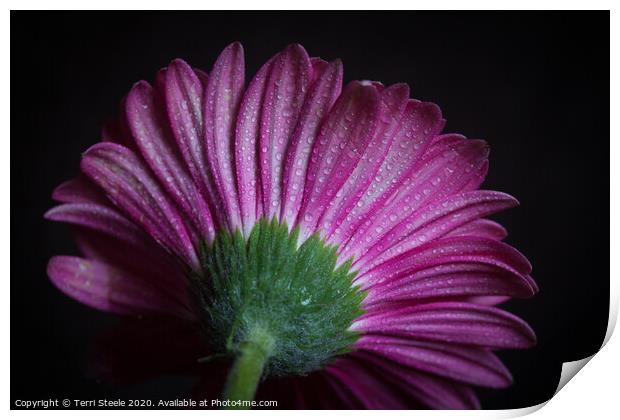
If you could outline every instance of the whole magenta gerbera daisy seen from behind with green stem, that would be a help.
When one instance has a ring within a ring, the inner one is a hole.
[[[46,217],[75,226],[83,256],[53,257],[49,277],[155,320],[173,341],[151,369],[195,369],[229,400],[477,408],[472,386],[511,383],[494,351],[535,343],[495,307],[537,291],[485,219],[517,201],[479,190],[487,144],[442,134],[436,105],[342,79],[291,45],[244,88],[234,43],[208,74],[177,59],[135,84],[53,193]]]

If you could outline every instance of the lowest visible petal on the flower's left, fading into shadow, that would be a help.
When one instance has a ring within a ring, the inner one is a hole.
[[[63,293],[95,309],[123,315],[187,315],[185,308],[162,296],[145,280],[98,261],[53,257],[47,274]]]

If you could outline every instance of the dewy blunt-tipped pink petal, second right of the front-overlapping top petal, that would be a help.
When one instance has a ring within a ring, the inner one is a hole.
[[[361,223],[376,214],[407,179],[441,127],[441,111],[431,103],[409,100],[398,132],[366,194],[332,232],[335,243],[346,242]]]

